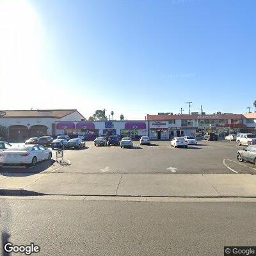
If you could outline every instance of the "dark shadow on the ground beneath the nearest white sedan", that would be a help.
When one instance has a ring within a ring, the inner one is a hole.
[[[44,160],[40,161],[39,163],[36,164],[36,166],[1,166],[0,167],[0,174],[6,177],[15,177],[15,176],[29,176],[33,175],[36,173],[42,173],[51,166],[57,165],[58,163],[54,160],[51,159],[49,160]]]

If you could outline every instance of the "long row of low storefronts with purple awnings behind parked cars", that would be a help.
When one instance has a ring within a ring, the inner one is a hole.
[[[76,109],[5,110],[0,125],[8,129],[8,138],[58,134],[87,134],[93,140],[101,133],[119,134],[138,139],[168,140],[173,136],[196,135],[202,131],[256,133],[256,113],[221,115],[147,115],[145,120],[88,122]]]

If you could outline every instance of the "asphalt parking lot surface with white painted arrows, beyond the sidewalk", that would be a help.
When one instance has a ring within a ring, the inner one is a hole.
[[[198,141],[188,148],[173,148],[170,141],[152,141],[150,146],[134,141],[133,148],[95,147],[88,141],[81,150],[65,150],[64,165],[53,159],[26,169],[2,168],[2,172],[256,174],[254,164],[237,162],[236,152],[242,148],[236,141]]]

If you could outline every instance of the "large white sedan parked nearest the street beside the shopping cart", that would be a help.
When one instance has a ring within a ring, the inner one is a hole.
[[[0,164],[30,164],[51,160],[52,152],[42,145],[13,146],[0,153]]]

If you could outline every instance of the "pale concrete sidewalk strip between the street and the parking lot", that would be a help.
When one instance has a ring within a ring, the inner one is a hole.
[[[256,197],[256,175],[22,173],[0,175],[0,195]]]

